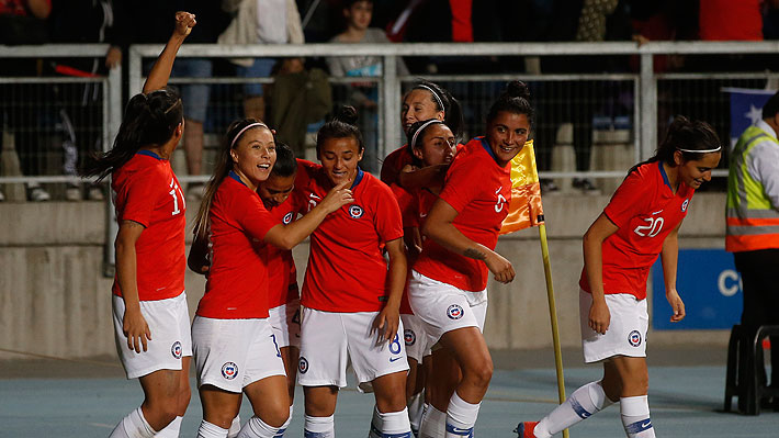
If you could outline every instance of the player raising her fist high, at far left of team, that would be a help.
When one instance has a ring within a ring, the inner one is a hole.
[[[183,106],[179,94],[165,86],[194,25],[194,15],[176,14],[173,34],[144,92],[127,103],[113,148],[90,159],[81,171],[113,179],[118,221],[114,335],[127,379],[137,378],[145,396],[111,437],[178,437],[190,402],[185,207],[169,161],[183,135]]]

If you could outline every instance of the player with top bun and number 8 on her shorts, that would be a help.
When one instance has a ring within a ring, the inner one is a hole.
[[[380,436],[410,437],[404,391],[408,364],[398,316],[406,280],[400,211],[390,188],[359,168],[364,146],[355,121],[353,108],[341,109],[317,134],[321,166],[304,162],[298,170],[298,178],[308,175],[296,190],[309,207],[337,184],[349,183],[354,198],[312,234],[297,370],[305,436],[335,436],[332,415],[351,360],[359,383],[372,383]]]

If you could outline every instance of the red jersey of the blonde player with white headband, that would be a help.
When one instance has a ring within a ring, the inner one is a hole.
[[[256,191],[230,175],[208,212],[211,269],[197,315],[218,319],[268,317],[268,268],[262,239],[279,222]]]

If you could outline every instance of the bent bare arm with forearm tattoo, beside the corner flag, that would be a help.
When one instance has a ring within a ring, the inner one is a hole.
[[[458,211],[453,206],[442,199],[436,200],[427,221],[422,224],[422,235],[436,240],[437,244],[452,252],[483,260],[487,265],[487,269],[495,276],[495,280],[501,283],[511,282],[515,277],[511,262],[486,246],[465,237],[454,226],[455,217],[458,217]]]

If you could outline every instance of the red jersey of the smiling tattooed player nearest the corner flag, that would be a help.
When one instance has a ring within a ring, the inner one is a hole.
[[[447,172],[439,194],[458,216],[454,226],[471,240],[495,249],[500,225],[511,200],[511,166],[498,166],[484,137],[476,137],[460,149]],[[433,280],[458,289],[478,292],[487,287],[484,261],[453,254],[432,239],[426,239],[414,269]]]

